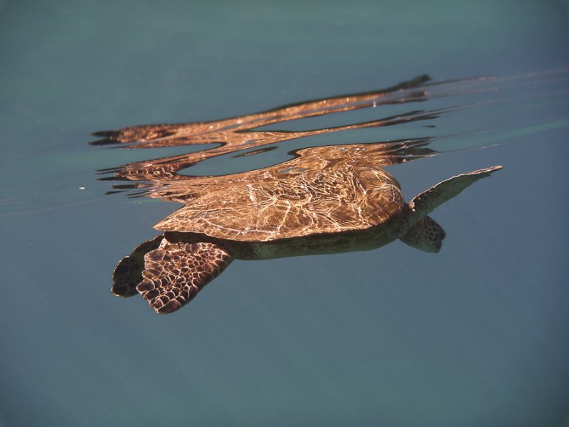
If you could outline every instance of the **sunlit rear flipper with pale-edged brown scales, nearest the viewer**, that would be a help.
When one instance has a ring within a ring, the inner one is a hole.
[[[233,254],[211,242],[170,243],[144,255],[137,290],[150,307],[171,313],[190,302],[233,261]]]

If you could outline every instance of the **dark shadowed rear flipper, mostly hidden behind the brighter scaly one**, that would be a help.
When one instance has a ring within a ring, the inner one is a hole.
[[[160,246],[164,235],[156,236],[149,241],[141,243],[134,248],[128,256],[122,258],[112,272],[114,282],[111,292],[117,297],[132,297],[137,295],[137,285],[142,282],[142,270],[144,270],[144,255]]]

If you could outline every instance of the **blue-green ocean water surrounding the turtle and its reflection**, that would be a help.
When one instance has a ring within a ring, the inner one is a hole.
[[[0,1],[0,426],[569,426],[568,23],[567,1]],[[91,132],[423,73],[485,78],[272,129],[450,109],[430,120],[184,172],[433,138],[439,155],[388,167],[409,200],[503,165],[432,214],[440,253],[238,260],[172,315],[110,293],[117,261],[179,204],[106,195],[97,170],[196,147],[96,147]]]

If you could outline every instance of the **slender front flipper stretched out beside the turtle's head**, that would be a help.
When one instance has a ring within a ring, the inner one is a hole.
[[[467,186],[474,184],[479,179],[490,176],[492,172],[502,169],[501,166],[493,166],[486,169],[478,169],[477,171],[468,172],[467,174],[460,174],[452,176],[445,181],[432,186],[430,189],[418,194],[409,202],[413,219],[418,221],[423,216],[430,214],[430,212],[437,206],[445,203],[457,196]]]

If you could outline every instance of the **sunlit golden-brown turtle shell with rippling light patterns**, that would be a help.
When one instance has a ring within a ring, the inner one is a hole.
[[[275,241],[365,230],[400,214],[403,195],[393,176],[371,167],[369,159],[336,158],[330,156],[334,150],[326,149],[328,158],[317,155],[317,149],[310,156],[300,150],[289,162],[197,185],[185,206],[155,228],[232,241]]]

